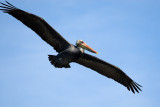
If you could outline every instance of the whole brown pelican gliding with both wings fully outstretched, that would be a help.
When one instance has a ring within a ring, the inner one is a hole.
[[[76,45],[72,45],[41,17],[18,9],[7,1],[6,4],[1,3],[0,7],[0,10],[10,14],[28,26],[58,52],[58,55],[49,55],[49,61],[56,68],[70,68],[69,64],[75,62],[115,80],[133,93],[141,91],[141,86],[134,82],[121,69],[97,57],[86,54],[84,50],[93,53],[97,52],[82,40],[78,40]]]

